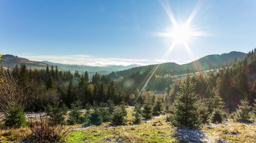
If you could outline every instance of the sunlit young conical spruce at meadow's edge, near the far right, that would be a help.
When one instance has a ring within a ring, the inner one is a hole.
[[[249,113],[252,110],[252,106],[249,104],[249,100],[247,98],[240,101],[241,104],[238,105],[238,109],[236,110],[235,120],[238,122],[251,122]]]

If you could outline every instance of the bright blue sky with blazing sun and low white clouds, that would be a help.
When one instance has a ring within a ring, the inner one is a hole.
[[[188,63],[256,47],[256,0],[0,0],[0,53],[83,65]]]

